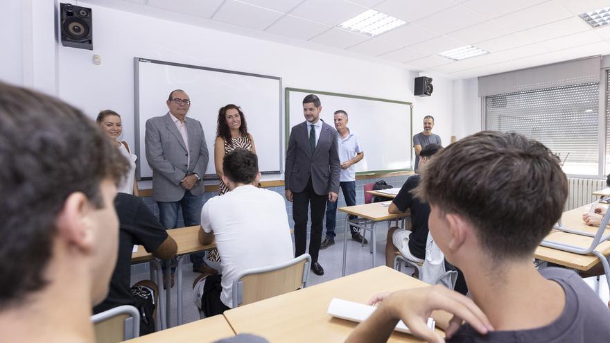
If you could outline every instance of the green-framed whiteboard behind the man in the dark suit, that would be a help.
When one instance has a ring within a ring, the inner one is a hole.
[[[365,152],[364,159],[355,165],[356,173],[380,173],[412,168],[411,103],[286,88],[286,142],[292,127],[305,120],[303,98],[308,94],[315,94],[320,98],[320,118],[332,127],[335,127],[335,111],[342,109],[347,112],[347,127],[350,132],[358,135]]]

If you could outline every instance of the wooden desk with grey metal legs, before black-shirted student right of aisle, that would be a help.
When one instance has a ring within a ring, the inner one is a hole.
[[[355,205],[340,207],[339,211],[347,213],[345,216],[345,231],[343,235],[343,270],[342,276],[345,276],[345,261],[347,259],[347,232],[350,226],[358,227],[360,229],[372,231],[371,234],[371,248],[372,248],[372,267],[375,267],[375,258],[377,252],[377,241],[375,238],[375,229],[379,222],[385,220],[398,220],[410,216],[410,212],[405,213],[389,213],[387,206],[383,206],[384,202],[373,202],[371,204]],[[358,218],[365,218],[367,220],[349,219],[349,216],[356,216]],[[389,222],[388,222],[389,224]],[[363,232],[363,237],[366,232]]]

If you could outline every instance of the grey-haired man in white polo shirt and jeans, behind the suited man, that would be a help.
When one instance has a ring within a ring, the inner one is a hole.
[[[347,128],[347,112],[342,109],[335,111],[335,128],[338,134],[339,161],[341,162],[341,176],[339,186],[343,191],[345,204],[352,206],[356,204],[356,167],[358,161],[365,157],[360,141],[356,134]],[[337,217],[337,202],[326,202],[326,238],[322,241],[320,249],[326,249],[335,244],[335,224]],[[350,219],[356,216],[349,216]],[[351,238],[358,242],[368,243],[355,227],[349,228]]]

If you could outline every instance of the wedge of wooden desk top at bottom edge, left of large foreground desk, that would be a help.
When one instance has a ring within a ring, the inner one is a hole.
[[[221,338],[232,337],[235,333],[223,315],[215,315],[189,324],[168,328],[128,340],[129,343],[165,343],[165,342],[214,342]]]

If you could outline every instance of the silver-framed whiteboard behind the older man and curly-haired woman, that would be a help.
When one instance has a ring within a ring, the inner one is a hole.
[[[259,170],[281,173],[281,78],[241,73],[187,64],[134,58],[134,115],[137,173],[150,179],[153,170],[146,161],[146,121],[168,112],[166,100],[174,89],[184,89],[191,98],[186,116],[203,126],[209,151],[206,179],[216,177],[214,142],[218,109],[227,104],[241,107],[247,129],[256,145]]]

